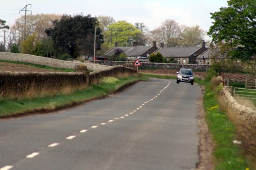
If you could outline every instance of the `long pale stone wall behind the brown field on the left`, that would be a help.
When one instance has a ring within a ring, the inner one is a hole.
[[[64,68],[64,69],[76,69],[76,65],[86,65],[89,70],[99,70],[99,69],[109,68],[109,66],[100,65],[100,64],[64,61],[64,60],[40,57],[40,56],[29,55],[29,54],[20,54],[20,53],[0,52],[0,60],[22,61],[27,63],[47,65],[51,67]]]

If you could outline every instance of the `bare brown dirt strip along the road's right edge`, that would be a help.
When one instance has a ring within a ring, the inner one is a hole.
[[[213,170],[214,169],[214,161],[212,157],[213,153],[213,143],[211,141],[211,134],[208,129],[207,122],[205,120],[206,113],[203,109],[203,96],[205,93],[205,87],[201,87],[201,96],[199,98],[199,117],[198,124],[200,127],[199,131],[199,157],[200,162],[197,164],[197,170]]]

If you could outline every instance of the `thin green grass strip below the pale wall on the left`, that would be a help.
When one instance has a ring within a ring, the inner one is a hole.
[[[76,71],[74,69],[62,69],[62,68],[50,67],[50,66],[46,66],[46,65],[26,63],[26,62],[21,62],[21,61],[0,60],[0,62],[2,62],[2,63],[12,63],[12,64],[23,64],[23,65],[28,65],[28,66],[32,66],[32,67],[41,68],[41,69],[52,69],[52,70],[60,70],[60,71],[65,71],[65,72],[75,72]]]

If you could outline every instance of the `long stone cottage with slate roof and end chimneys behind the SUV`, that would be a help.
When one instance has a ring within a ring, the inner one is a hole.
[[[201,47],[169,47],[164,48],[164,44],[161,43],[158,50],[154,53],[160,52],[163,57],[169,60],[173,57],[178,64],[196,64],[196,57],[201,53],[204,53],[206,48],[206,42],[202,41]]]

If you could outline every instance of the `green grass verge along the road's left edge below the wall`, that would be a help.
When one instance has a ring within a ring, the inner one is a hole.
[[[133,84],[139,80],[147,81],[145,77],[118,78],[116,82],[90,85],[83,90],[76,90],[70,95],[45,96],[35,99],[10,100],[0,99],[0,117],[17,116],[24,113],[53,111],[59,108],[100,98]]]

